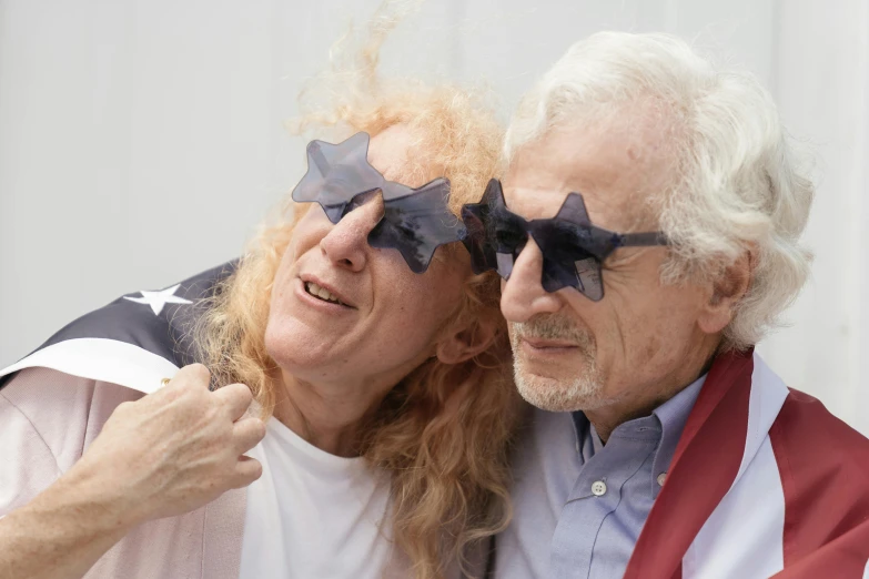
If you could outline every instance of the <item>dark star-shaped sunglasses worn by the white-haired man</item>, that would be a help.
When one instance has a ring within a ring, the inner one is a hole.
[[[614,233],[592,225],[579,193],[567,195],[555,217],[527,221],[507,209],[495,179],[479,203],[462,207],[462,220],[474,273],[495,270],[508,280],[531,235],[543,253],[543,288],[574,287],[595,302],[604,297],[600,266],[610,253],[619,247],[668,244],[660,232]]]

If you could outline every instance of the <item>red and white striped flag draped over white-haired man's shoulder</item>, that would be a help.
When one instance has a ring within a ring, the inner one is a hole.
[[[757,354],[719,356],[626,579],[869,579],[869,440]]]

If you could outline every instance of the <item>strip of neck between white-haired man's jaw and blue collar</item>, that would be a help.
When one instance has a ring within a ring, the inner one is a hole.
[[[694,384],[709,370],[717,348],[717,341],[711,345],[704,345],[681,358],[678,366],[664,376],[644,384],[631,384],[625,388],[624,395],[608,400],[599,408],[585,410],[588,421],[595,426],[600,440],[606,444],[609,435],[619,425],[640,416],[648,416],[655,408]]]

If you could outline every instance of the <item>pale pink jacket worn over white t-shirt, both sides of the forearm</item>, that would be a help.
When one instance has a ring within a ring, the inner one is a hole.
[[[78,460],[112,412],[142,393],[48,368],[21,370],[0,390],[0,517]],[[134,528],[83,579],[235,579],[246,490]],[[209,512],[209,524],[205,512]]]

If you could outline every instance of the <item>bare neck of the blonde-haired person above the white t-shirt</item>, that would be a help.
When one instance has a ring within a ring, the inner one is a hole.
[[[358,456],[358,429],[386,392],[363,385],[312,383],[282,373],[274,417],[329,454]]]

